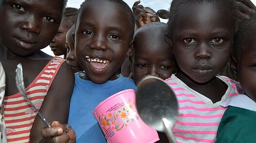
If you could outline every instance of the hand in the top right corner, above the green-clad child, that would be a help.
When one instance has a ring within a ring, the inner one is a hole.
[[[240,25],[246,19],[249,19],[253,14],[256,14],[256,6],[253,4],[251,0],[235,0],[239,16],[238,16],[238,24]]]

